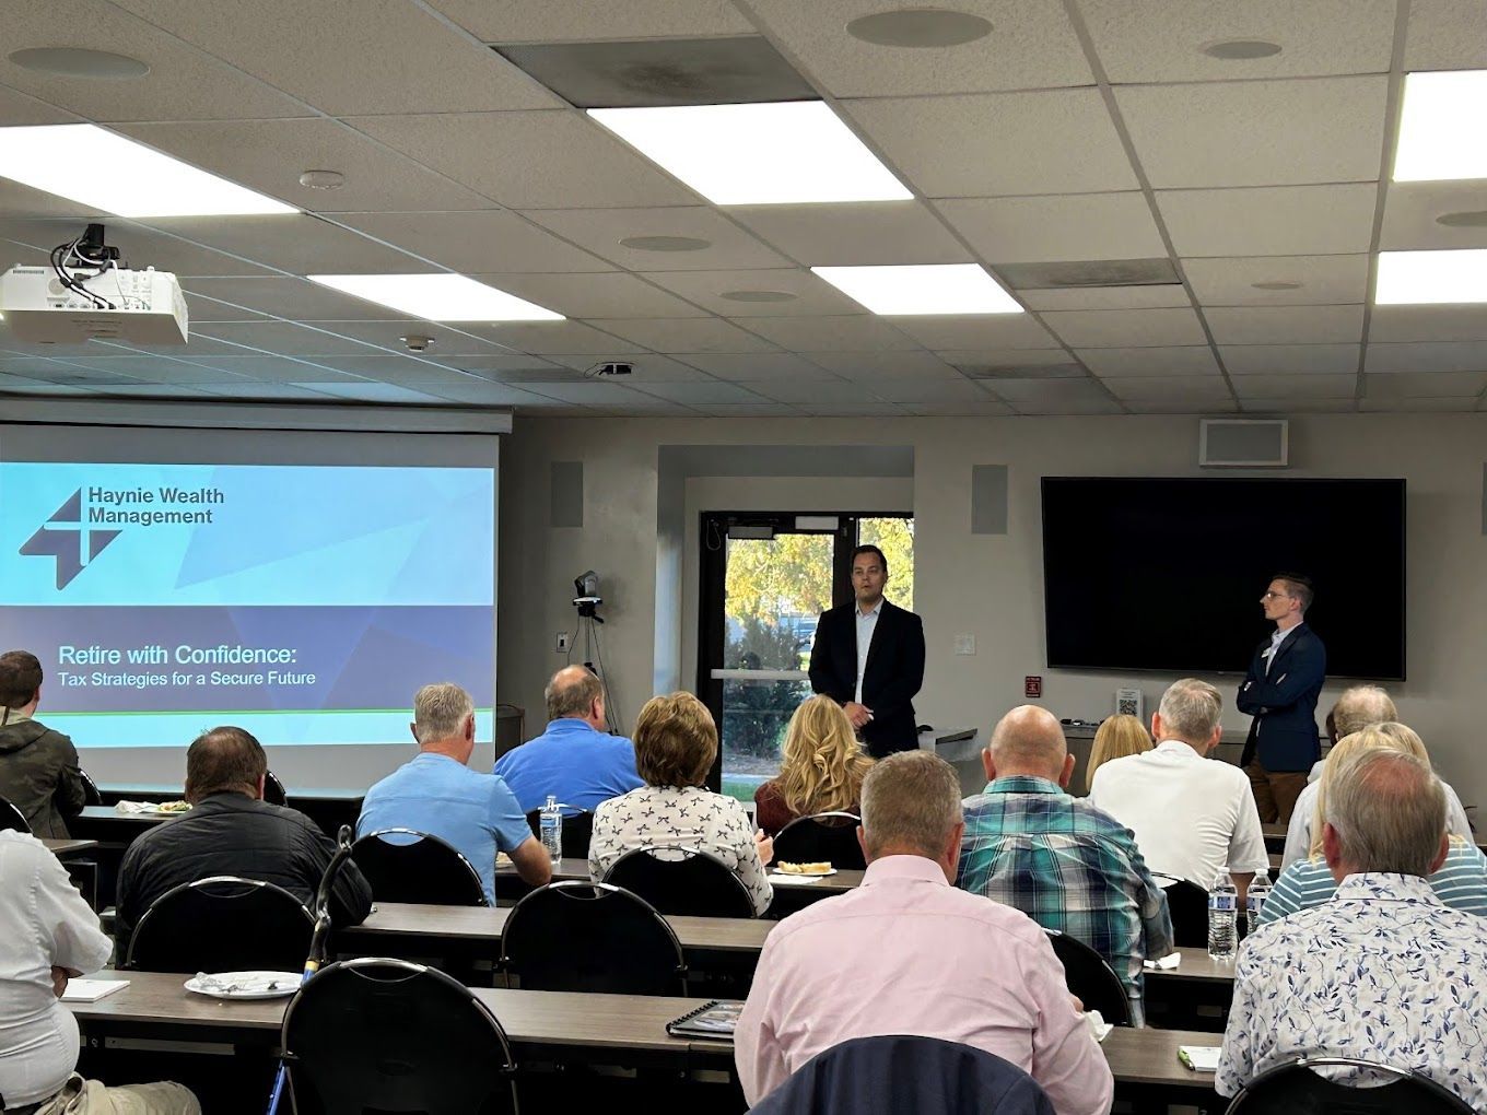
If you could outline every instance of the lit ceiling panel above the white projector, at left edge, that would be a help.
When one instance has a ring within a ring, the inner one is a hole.
[[[297,213],[92,123],[0,128],[0,177],[120,217]]]

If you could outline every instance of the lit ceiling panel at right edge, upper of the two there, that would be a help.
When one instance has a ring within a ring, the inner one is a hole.
[[[1405,74],[1393,180],[1487,178],[1484,116],[1487,70]]]

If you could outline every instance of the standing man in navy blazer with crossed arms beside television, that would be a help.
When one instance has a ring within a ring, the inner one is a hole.
[[[1259,604],[1276,632],[1255,648],[1236,702],[1254,717],[1240,766],[1267,824],[1291,821],[1307,772],[1322,754],[1316,699],[1326,681],[1326,647],[1306,624],[1312,595],[1312,581],[1300,574],[1271,578]]]

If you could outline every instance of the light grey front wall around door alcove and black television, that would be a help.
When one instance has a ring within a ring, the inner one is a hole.
[[[1109,712],[1118,685],[1142,688],[1149,708],[1172,679],[1042,665],[1038,482],[1045,474],[1200,476],[1194,418],[517,419],[501,474],[498,694],[525,705],[529,725],[541,720],[546,676],[562,665],[550,650],[552,635],[574,626],[570,581],[589,566],[605,575],[605,596],[613,601],[604,610],[604,639],[619,703],[633,717],[651,696],[657,669],[657,453],[663,445],[680,443],[915,446],[915,598],[928,639],[925,688],[916,705],[925,720],[984,728],[1022,702],[1028,673],[1044,676],[1042,703],[1054,714],[1086,718]],[[1477,739],[1480,675],[1487,663],[1484,458],[1483,415],[1306,415],[1292,419],[1294,467],[1286,471],[1407,479],[1410,681],[1389,688],[1401,717],[1422,731],[1442,776],[1466,804],[1487,801],[1487,763],[1478,755]],[[547,465],[575,459],[584,462],[584,525],[552,529]],[[1008,465],[1005,535],[970,532],[971,467],[977,464]],[[691,483],[708,491],[708,485],[723,482]],[[770,495],[764,480],[732,477],[726,483],[730,494],[739,485],[758,483],[755,505]],[[812,485],[828,485],[827,491],[837,483],[849,491],[842,480],[812,479]],[[819,488],[812,491],[816,494]],[[851,504],[846,500],[843,507]],[[697,510],[700,502],[688,500],[693,522]],[[1173,523],[1169,543],[1193,540]],[[1367,562],[1367,523],[1359,525],[1358,538],[1343,544],[1356,547],[1358,560]],[[687,546],[694,562],[694,538]],[[694,587],[690,604],[696,604]],[[1163,602],[1154,607],[1160,623]],[[1166,607],[1181,607],[1181,601]],[[953,654],[958,633],[975,636],[974,657]],[[1326,632],[1320,635],[1326,638]],[[1243,673],[1246,665],[1236,662],[1234,668]],[[1233,693],[1239,676],[1210,681]],[[1323,706],[1338,688],[1328,687]],[[1246,723],[1230,705],[1225,728],[1243,730]]]

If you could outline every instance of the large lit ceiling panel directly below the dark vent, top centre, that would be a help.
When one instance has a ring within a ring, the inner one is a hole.
[[[821,101],[589,109],[589,116],[714,205],[913,196]]]

